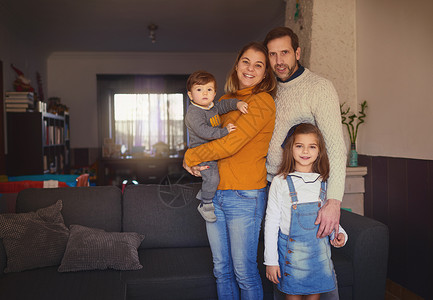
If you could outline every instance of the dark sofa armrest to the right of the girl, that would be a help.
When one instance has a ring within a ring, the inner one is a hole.
[[[353,264],[353,299],[385,298],[388,268],[388,227],[376,220],[341,210],[341,226],[349,235],[338,253]]]

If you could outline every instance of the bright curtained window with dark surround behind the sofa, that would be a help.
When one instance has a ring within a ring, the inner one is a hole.
[[[188,75],[97,75],[99,145],[107,138],[122,153],[184,149]]]

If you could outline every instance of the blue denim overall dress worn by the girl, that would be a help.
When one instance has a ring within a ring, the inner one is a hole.
[[[336,288],[329,238],[316,237],[317,213],[326,197],[322,182],[318,202],[298,203],[292,178],[287,176],[291,206],[290,234],[279,232],[278,256],[281,270],[278,289],[289,295],[320,294]]]

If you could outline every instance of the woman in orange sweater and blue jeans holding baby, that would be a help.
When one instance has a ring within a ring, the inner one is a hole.
[[[213,198],[217,221],[206,222],[219,299],[262,299],[257,245],[266,209],[266,154],[274,130],[276,86],[266,48],[249,43],[239,52],[220,101],[237,98],[248,113],[221,116],[236,130],[224,138],[188,149],[184,167],[199,176],[205,161],[218,160],[220,184]],[[192,167],[192,168],[191,168]]]

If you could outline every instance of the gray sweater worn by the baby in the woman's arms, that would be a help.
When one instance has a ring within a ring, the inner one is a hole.
[[[221,128],[219,115],[237,109],[237,99],[224,99],[214,102],[210,109],[190,104],[185,115],[185,125],[189,130],[189,147],[194,148],[211,140],[226,136],[227,128]]]

